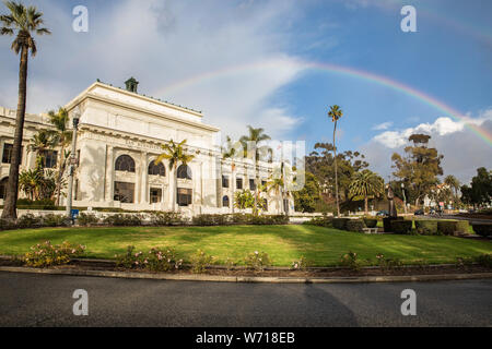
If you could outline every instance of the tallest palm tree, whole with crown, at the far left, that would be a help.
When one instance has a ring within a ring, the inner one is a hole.
[[[20,53],[21,58],[19,67],[17,115],[15,119],[12,159],[2,218],[15,219],[17,217],[19,167],[21,165],[21,147],[24,133],[28,52],[31,51],[32,57],[37,52],[36,41],[32,34],[44,35],[50,34],[50,32],[47,28],[42,27],[44,23],[43,13],[37,12],[35,7],[26,8],[22,3],[14,1],[7,1],[5,5],[10,13],[0,15],[0,35],[16,34],[11,48],[15,55]]]

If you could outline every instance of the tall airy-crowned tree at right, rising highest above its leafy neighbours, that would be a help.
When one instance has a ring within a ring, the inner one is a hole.
[[[411,135],[413,146],[405,148],[406,157],[395,153],[391,156],[394,176],[405,183],[409,200],[419,202],[431,193],[438,183],[437,176],[443,174],[441,161],[444,158],[437,149],[427,147],[430,136]]]

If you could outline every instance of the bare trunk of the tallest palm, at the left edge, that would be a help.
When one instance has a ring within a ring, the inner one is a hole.
[[[19,103],[15,118],[15,133],[12,146],[12,157],[9,171],[9,183],[7,185],[7,197],[3,206],[2,218],[17,218],[19,195],[19,166],[21,165],[22,139],[24,133],[25,98],[27,93],[27,47],[21,50],[21,62],[19,67]]]

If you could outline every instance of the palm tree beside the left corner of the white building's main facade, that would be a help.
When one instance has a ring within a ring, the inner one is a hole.
[[[60,160],[58,161],[58,172],[56,178],[56,205],[60,204],[61,184],[65,170],[67,168],[67,159],[70,156],[70,151],[67,152],[66,148],[72,142],[72,130],[68,130],[69,115],[67,109],[60,108],[58,112],[49,111],[49,122],[55,127],[55,130],[48,131],[51,136],[51,142],[54,146],[60,147]]]

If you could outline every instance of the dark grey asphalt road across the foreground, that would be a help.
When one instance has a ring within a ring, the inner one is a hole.
[[[89,316],[72,313],[75,289]],[[401,315],[403,289],[417,316]],[[258,285],[0,273],[0,326],[491,326],[492,280]]]

